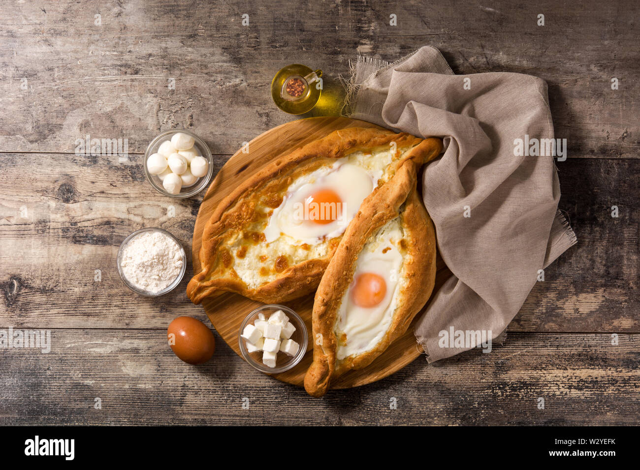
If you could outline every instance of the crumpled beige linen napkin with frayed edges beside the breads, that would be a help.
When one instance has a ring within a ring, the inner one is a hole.
[[[522,74],[454,75],[440,51],[422,47],[392,64],[359,57],[346,103],[350,117],[444,137],[442,158],[422,178],[453,273],[415,325],[428,361],[479,346],[477,333],[502,340],[539,270],[577,242],[557,211],[554,158],[515,152],[516,139],[554,138],[547,84]]]

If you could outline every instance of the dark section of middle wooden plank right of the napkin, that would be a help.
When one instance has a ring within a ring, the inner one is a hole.
[[[639,332],[640,165],[574,159],[557,166],[559,207],[578,244],[545,269],[509,330]]]

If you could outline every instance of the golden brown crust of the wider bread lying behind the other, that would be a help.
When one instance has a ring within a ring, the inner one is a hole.
[[[245,230],[261,223],[257,208],[277,207],[280,201],[274,195],[284,193],[291,182],[326,164],[327,159],[338,159],[353,152],[375,150],[396,143],[401,159],[396,162],[396,171],[403,162],[415,161],[421,165],[435,158],[442,150],[440,139],[420,139],[410,134],[395,134],[389,130],[356,128],[341,129],[321,139],[294,150],[285,157],[256,173],[221,201],[205,225],[200,249],[202,269],[195,274],[187,286],[187,295],[194,303],[215,295],[221,290],[237,292],[261,302],[285,302],[314,292],[323,272],[333,256],[340,238],[328,240],[328,249],[321,258],[310,258],[278,271],[277,277],[257,288],[249,288],[233,269],[234,256],[228,251],[228,240],[247,237],[248,243],[259,244],[259,232]],[[372,192],[364,203],[386,185]],[[271,200],[269,200],[271,198]],[[253,237],[253,240],[252,240]],[[286,260],[285,260],[286,261]],[[287,263],[285,262],[286,266]]]

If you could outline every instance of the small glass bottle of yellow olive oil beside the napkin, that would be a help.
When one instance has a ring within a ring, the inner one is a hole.
[[[287,65],[271,81],[271,97],[289,114],[302,114],[316,106],[322,93],[322,70],[300,64]]]

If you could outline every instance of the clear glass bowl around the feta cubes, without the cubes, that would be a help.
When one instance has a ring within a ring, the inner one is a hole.
[[[266,317],[269,317],[271,313],[274,313],[277,310],[282,310],[289,317],[289,321],[296,327],[296,331],[291,335],[291,339],[296,341],[300,345],[298,349],[298,353],[295,356],[288,356],[284,352],[278,352],[278,359],[276,360],[275,367],[269,367],[262,363],[262,351],[258,352],[248,352],[246,350],[246,345],[244,345],[244,338],[241,337],[241,334],[244,331],[244,327],[248,324],[253,324],[255,320],[258,319],[259,313],[264,313]],[[240,352],[242,353],[242,357],[244,360],[251,364],[254,368],[264,373],[280,373],[285,372],[298,364],[305,354],[307,354],[307,325],[300,318],[300,316],[294,312],[291,308],[285,307],[284,305],[278,304],[268,304],[263,305],[255,310],[253,310],[249,315],[244,318],[244,322],[240,325],[240,331],[238,333],[238,342],[240,345]]]

